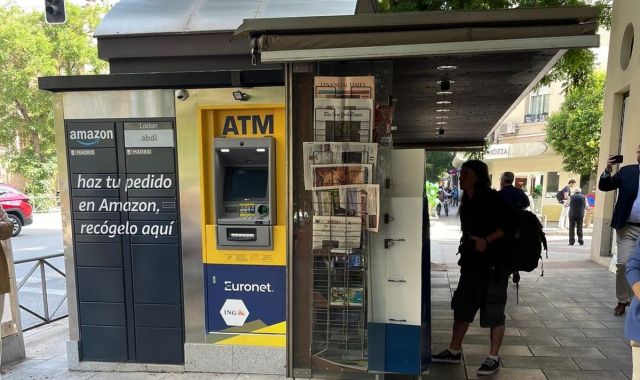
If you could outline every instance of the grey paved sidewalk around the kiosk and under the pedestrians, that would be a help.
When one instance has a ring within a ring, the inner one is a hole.
[[[454,216],[432,221],[433,351],[448,346],[453,314],[449,308],[459,272],[455,256],[460,227]],[[623,337],[624,317],[613,315],[614,274],[589,261],[591,238],[568,246],[564,236],[549,236],[549,259],[540,271],[522,275],[519,304],[509,288],[507,332],[501,355],[504,368],[486,379],[618,380],[631,378],[631,350]],[[67,320],[25,334],[28,359],[2,368],[3,380],[15,379],[220,379],[279,380],[279,376],[96,373],[66,369]],[[424,379],[476,379],[488,352],[488,330],[477,322],[463,346],[464,364],[433,364]]]

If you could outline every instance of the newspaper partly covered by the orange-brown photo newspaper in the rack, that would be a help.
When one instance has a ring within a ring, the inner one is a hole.
[[[378,144],[343,142],[306,142],[302,146],[304,155],[304,187],[313,187],[311,165],[369,164],[375,167],[378,159]]]

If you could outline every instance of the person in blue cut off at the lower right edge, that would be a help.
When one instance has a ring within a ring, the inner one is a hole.
[[[632,380],[640,380],[640,240],[636,241],[635,248],[627,261],[626,276],[633,298],[625,318],[624,336],[631,343]]]

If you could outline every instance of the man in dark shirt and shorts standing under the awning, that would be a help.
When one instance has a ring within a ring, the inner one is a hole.
[[[480,327],[491,329],[491,348],[478,375],[490,375],[500,369],[498,353],[505,331],[504,310],[511,272],[505,236],[513,233],[514,211],[490,186],[484,162],[470,160],[462,164],[460,282],[451,300],[453,333],[449,348],[431,357],[434,362],[460,363],[462,340],[480,310]]]

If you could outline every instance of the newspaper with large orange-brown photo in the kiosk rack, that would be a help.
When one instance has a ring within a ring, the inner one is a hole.
[[[313,175],[311,189],[370,184],[373,174],[371,169],[371,165],[361,164],[311,165]]]

